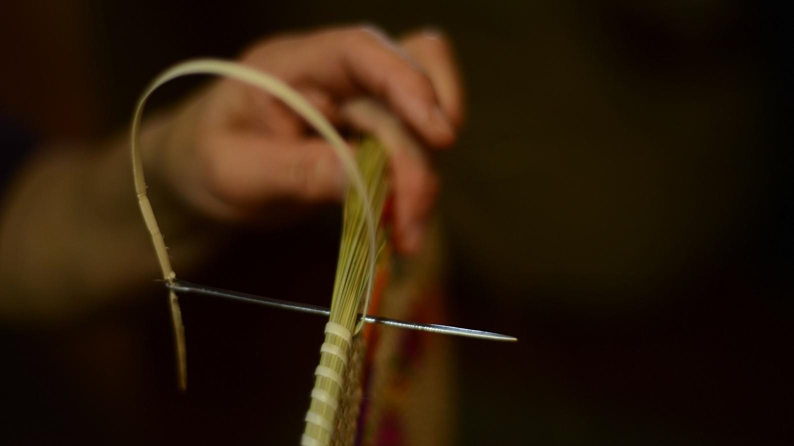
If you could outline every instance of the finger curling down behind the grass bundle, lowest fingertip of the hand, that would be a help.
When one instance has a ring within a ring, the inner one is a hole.
[[[377,136],[389,151],[395,241],[401,251],[417,252],[437,193],[437,179],[421,145],[398,117],[372,99],[346,103],[341,116],[355,128]]]

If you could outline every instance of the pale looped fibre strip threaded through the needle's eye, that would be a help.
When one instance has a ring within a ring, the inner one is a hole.
[[[318,110],[311,106],[306,99],[301,96],[297,91],[287,86],[286,83],[281,82],[272,75],[268,75],[261,71],[256,71],[251,67],[246,67],[240,63],[228,62],[225,60],[190,60],[187,62],[179,63],[174,67],[169,68],[162,74],[157,76],[152,83],[144,90],[141,97],[138,99],[135,113],[133,114],[133,122],[130,130],[130,148],[133,159],[133,179],[135,181],[135,192],[138,198],[138,206],[141,208],[146,228],[152,238],[157,261],[160,263],[160,269],[163,271],[163,278],[169,284],[174,283],[176,277],[172,267],[171,261],[168,258],[168,248],[165,246],[163,235],[160,233],[160,228],[157,225],[152,205],[146,197],[146,181],[143,170],[143,160],[141,157],[141,119],[143,117],[144,107],[150,94],[157,87],[160,87],[168,81],[184,75],[222,75],[228,78],[237,79],[238,81],[248,83],[253,87],[258,87],[265,92],[272,94],[276,98],[281,99],[287,106],[291,107],[295,113],[298,113],[310,125],[314,127],[317,132],[328,141],[333,148],[337,157],[344,167],[351,185],[358,192],[361,200],[360,211],[364,213],[364,220],[369,238],[369,274],[366,286],[366,300],[364,303],[364,312],[366,312],[369,305],[369,296],[372,294],[372,278],[375,275],[375,260],[376,260],[376,233],[375,233],[375,217],[372,214],[372,204],[370,203],[366,188],[364,187],[364,180],[362,179],[357,165],[353,160],[353,156],[349,152],[345,140],[339,136],[333,125],[320,113]],[[179,301],[176,294],[170,291],[168,299],[171,305],[172,325],[174,330],[174,338],[176,344],[176,352],[179,365],[179,387],[185,389],[187,387],[187,359],[185,351],[185,337],[184,326],[182,324],[182,315],[179,310]],[[362,321],[357,325],[355,332],[357,333]]]

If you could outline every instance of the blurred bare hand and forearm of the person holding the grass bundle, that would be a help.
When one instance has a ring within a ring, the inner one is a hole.
[[[384,142],[395,244],[418,252],[437,193],[427,153],[453,144],[464,115],[447,40],[435,32],[395,41],[369,27],[326,29],[264,40],[241,62],[299,90],[341,129]],[[49,148],[21,170],[0,225],[3,317],[71,317],[158,276],[126,141]],[[211,256],[207,225],[289,224],[296,210],[339,201],[345,190],[326,142],[282,103],[234,81],[214,81],[149,117],[141,147],[175,269]]]

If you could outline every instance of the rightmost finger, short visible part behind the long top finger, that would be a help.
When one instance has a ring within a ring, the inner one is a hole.
[[[400,46],[426,72],[441,110],[453,125],[460,127],[464,118],[463,87],[449,42],[441,33],[426,30],[410,34]]]

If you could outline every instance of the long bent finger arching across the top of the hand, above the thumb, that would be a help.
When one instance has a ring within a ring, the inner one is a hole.
[[[453,143],[455,129],[433,84],[387,37],[371,28],[336,29],[255,48],[245,61],[295,86],[322,87],[337,99],[361,93],[387,103],[433,147]]]

